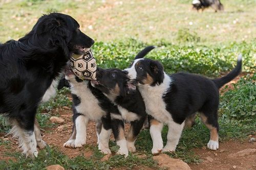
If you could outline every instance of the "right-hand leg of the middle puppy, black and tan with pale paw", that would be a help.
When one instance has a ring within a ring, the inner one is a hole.
[[[134,143],[137,139],[137,136],[140,133],[141,128],[143,127],[144,121],[145,121],[145,116],[143,116],[139,120],[135,120],[135,121],[131,122],[131,127],[130,127],[130,130],[127,133],[127,137],[126,137],[127,148],[128,148],[128,151],[130,151],[130,152],[136,152]]]

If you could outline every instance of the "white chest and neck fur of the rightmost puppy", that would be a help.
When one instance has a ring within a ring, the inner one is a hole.
[[[145,102],[147,114],[152,115],[157,120],[165,124],[173,121],[172,116],[165,109],[166,104],[162,98],[169,89],[170,82],[172,82],[172,79],[170,79],[168,75],[164,74],[163,83],[160,85],[156,85],[154,87],[150,85],[139,85],[139,90]]]

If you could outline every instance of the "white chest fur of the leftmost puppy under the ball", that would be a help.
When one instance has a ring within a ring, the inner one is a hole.
[[[79,96],[81,103],[76,106],[77,112],[86,115],[90,120],[96,122],[105,113],[99,106],[98,100],[88,88],[89,81],[83,83],[71,84],[71,91],[73,94]]]

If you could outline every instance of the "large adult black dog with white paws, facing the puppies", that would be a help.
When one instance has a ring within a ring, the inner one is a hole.
[[[94,40],[79,30],[69,15],[41,16],[18,41],[0,44],[0,113],[8,117],[26,156],[44,148],[35,114],[40,102],[55,92],[54,84],[72,54],[82,54]]]

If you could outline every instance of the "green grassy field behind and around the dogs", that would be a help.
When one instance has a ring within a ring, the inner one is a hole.
[[[191,1],[0,1],[0,42],[18,39],[29,32],[41,14],[53,11],[72,15],[81,30],[96,40],[94,55],[104,68],[127,67],[134,56],[146,45],[158,48],[148,54],[164,65],[166,72],[193,72],[216,78],[230,71],[237,56],[243,54],[245,76],[234,86],[223,89],[220,98],[220,141],[244,140],[256,129],[256,2],[254,0],[222,1],[225,11],[203,13],[191,10]],[[225,92],[224,92],[225,91]],[[52,110],[71,106],[68,89],[60,90],[50,102],[41,105],[37,118],[42,129],[56,127],[49,122]],[[40,114],[42,112],[49,114]],[[3,120],[3,118],[0,118]],[[0,132],[9,127],[0,121]],[[167,128],[163,130],[166,142]],[[185,162],[200,162],[193,149],[202,148],[209,138],[208,129],[197,118],[196,125],[183,131],[175,153],[167,153]],[[111,150],[116,151],[110,141]],[[9,141],[0,139],[0,147],[10,147]],[[16,161],[0,160],[0,169],[42,169],[60,164],[65,169],[111,169],[147,166],[158,169],[152,159],[152,142],[148,130],[140,133],[136,141],[138,153],[126,159],[114,155],[109,161],[99,161],[103,155],[96,145],[86,145],[94,151],[89,159],[84,156],[69,158],[56,147],[47,147],[31,161],[19,152],[8,151],[6,156]]]

